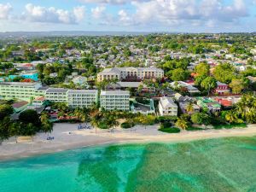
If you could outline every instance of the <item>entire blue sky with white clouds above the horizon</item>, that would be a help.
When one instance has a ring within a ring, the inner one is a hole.
[[[0,31],[255,32],[256,0],[1,0]]]

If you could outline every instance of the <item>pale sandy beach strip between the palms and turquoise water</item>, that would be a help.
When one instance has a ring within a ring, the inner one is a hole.
[[[177,134],[160,132],[159,125],[147,126],[147,129],[142,126],[136,126],[131,130],[118,128],[113,132],[97,129],[97,133],[94,129],[78,131],[77,127],[77,124],[55,124],[54,131],[50,134],[51,137],[55,137],[52,141],[48,141],[47,134],[44,133],[38,133],[33,137],[32,143],[16,143],[15,138],[12,137],[0,145],[0,160],[19,159],[101,144],[180,143],[208,138],[256,136],[256,125],[230,130],[182,131]]]

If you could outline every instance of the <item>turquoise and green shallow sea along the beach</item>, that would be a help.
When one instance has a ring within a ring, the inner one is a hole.
[[[256,192],[256,137],[76,148],[0,162],[1,192]]]

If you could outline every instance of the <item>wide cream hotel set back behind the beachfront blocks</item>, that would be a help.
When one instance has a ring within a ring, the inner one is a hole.
[[[143,80],[159,79],[164,77],[164,71],[156,67],[114,67],[105,68],[97,75],[97,81],[104,79],[122,80]]]

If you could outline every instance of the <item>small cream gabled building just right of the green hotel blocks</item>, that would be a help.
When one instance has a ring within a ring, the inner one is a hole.
[[[160,115],[177,116],[177,104],[173,102],[171,97],[164,96],[160,98],[159,102]]]

